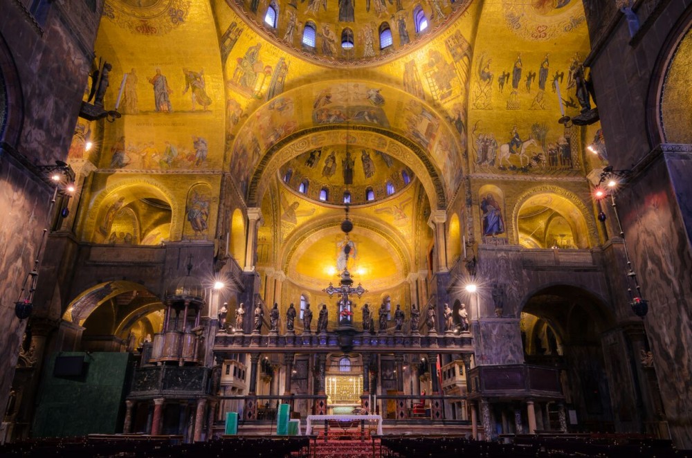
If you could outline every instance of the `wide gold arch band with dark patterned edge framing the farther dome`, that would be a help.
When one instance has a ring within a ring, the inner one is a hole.
[[[274,178],[282,164],[311,149],[334,145],[336,137],[345,134],[346,131],[345,127],[335,129],[333,125],[311,127],[295,132],[295,134],[280,140],[269,148],[257,164],[252,180],[248,185],[248,205],[255,205],[262,199],[268,182]],[[381,151],[408,165],[425,188],[428,199],[430,199],[430,206],[446,208],[446,193],[440,173],[431,158],[419,145],[392,131],[373,126],[350,126],[348,133],[349,135],[362,136],[362,140],[354,146],[376,146]],[[311,137],[309,138],[309,136]],[[382,143],[382,140],[385,140],[385,143]]]

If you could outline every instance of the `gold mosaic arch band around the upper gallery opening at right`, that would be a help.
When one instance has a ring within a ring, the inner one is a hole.
[[[577,248],[590,248],[597,245],[596,222],[594,221],[593,214],[587,205],[579,196],[574,194],[574,192],[565,190],[563,187],[553,185],[533,187],[523,192],[516,199],[512,211],[511,222],[511,228],[513,230],[511,239],[513,240],[514,244],[520,244],[519,216],[522,207],[529,202],[530,199],[538,199],[538,196],[554,196],[556,201],[561,203],[561,205],[565,205],[565,208],[567,208],[567,205],[572,205],[569,216],[575,224],[572,230]],[[547,199],[543,203],[547,203]],[[549,205],[545,206],[549,207]],[[576,232],[574,232],[575,230]],[[577,236],[579,236],[579,239]]]

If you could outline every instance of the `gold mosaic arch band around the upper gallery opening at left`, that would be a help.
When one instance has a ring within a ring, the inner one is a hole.
[[[123,197],[124,199],[122,199],[122,202],[118,204],[121,208],[131,201],[142,198],[142,189],[151,191],[153,194],[152,196],[165,201],[165,203],[170,206],[171,219],[169,239],[174,239],[176,236],[180,237],[183,230],[181,223],[181,206],[173,193],[158,181],[149,178],[131,178],[118,181],[118,183],[114,183],[105,188],[93,197],[88,206],[89,210],[87,210],[85,218],[86,222],[82,232],[82,239],[94,239],[94,237],[96,237],[96,232],[100,229],[100,226],[102,226],[102,218],[107,213],[108,208],[111,208],[111,205],[120,201],[120,198]],[[139,192],[134,193],[134,190],[139,190]],[[100,236],[106,237],[103,233],[101,233]],[[143,236],[143,238],[145,238],[145,236]]]

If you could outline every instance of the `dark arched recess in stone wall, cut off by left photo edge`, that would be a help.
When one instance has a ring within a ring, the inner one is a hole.
[[[0,34],[0,140],[16,146],[24,124],[24,95],[15,59]]]

